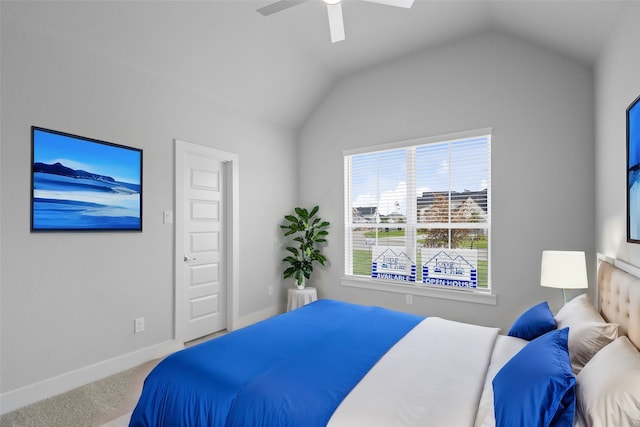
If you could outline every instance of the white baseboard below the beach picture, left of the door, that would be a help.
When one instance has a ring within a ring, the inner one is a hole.
[[[175,340],[165,341],[95,365],[71,371],[16,390],[0,394],[0,415],[64,393],[93,381],[131,369],[184,348]]]

